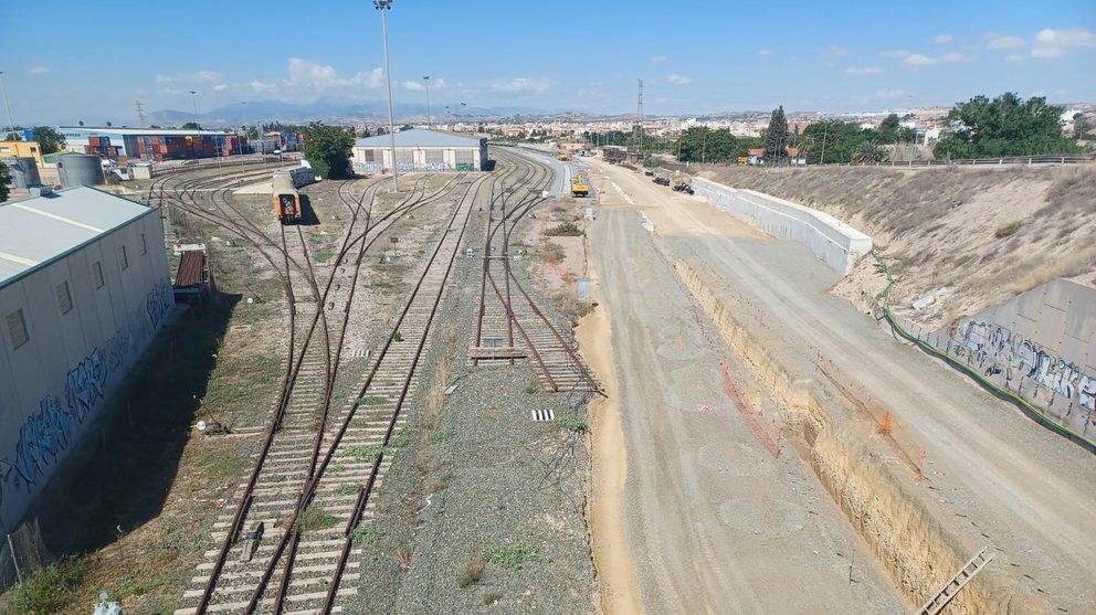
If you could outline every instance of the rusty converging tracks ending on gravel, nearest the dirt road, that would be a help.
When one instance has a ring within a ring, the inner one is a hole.
[[[479,286],[477,346],[470,349],[473,364],[528,358],[547,391],[603,393],[589,365],[526,291],[513,271],[510,235],[534,208],[547,201],[551,183],[547,166],[523,156],[495,150],[507,167],[492,193]],[[528,191],[523,185],[531,185]]]

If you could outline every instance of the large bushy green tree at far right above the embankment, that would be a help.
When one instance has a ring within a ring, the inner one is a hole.
[[[937,158],[992,158],[1072,153],[1077,145],[1062,135],[1058,118],[1064,107],[1046,98],[1026,100],[1005,92],[990,100],[976,96],[948,112],[950,130],[937,141]]]

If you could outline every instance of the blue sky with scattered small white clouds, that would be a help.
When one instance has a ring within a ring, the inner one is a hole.
[[[900,8],[899,8],[900,7]],[[17,124],[244,100],[383,100],[368,0],[0,4]],[[1096,103],[1096,1],[394,0],[393,97],[634,113],[877,110],[1005,91]],[[7,116],[0,116],[7,124]]]

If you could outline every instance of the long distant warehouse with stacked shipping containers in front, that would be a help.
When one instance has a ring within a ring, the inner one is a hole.
[[[68,150],[97,153],[119,165],[240,153],[240,138],[221,130],[60,126],[57,131],[64,136]]]

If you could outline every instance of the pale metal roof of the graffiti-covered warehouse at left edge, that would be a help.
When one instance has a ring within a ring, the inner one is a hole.
[[[152,211],[86,185],[0,203],[0,287]]]

